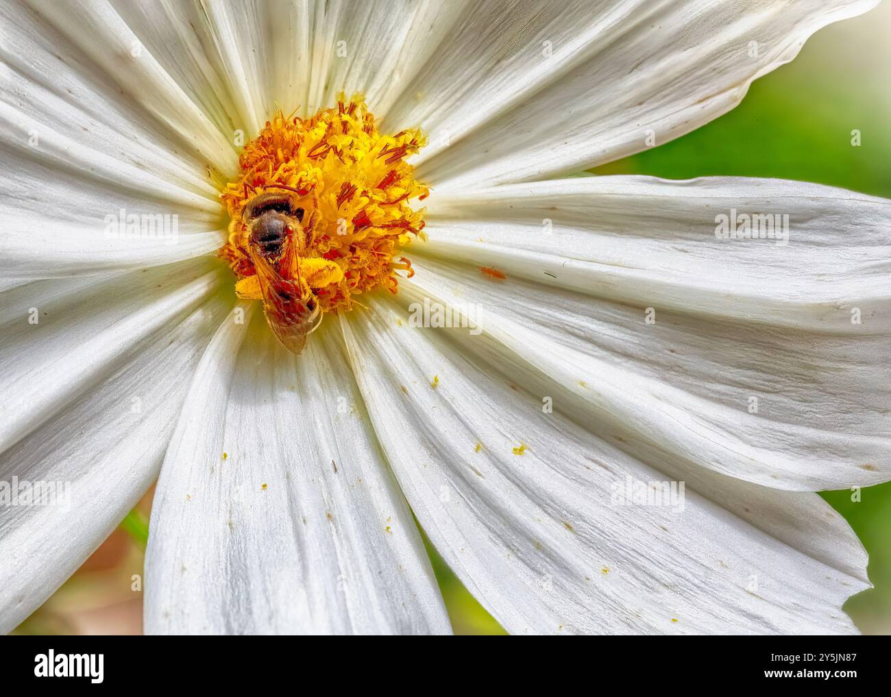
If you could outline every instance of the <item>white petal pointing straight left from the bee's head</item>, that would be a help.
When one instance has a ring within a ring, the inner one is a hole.
[[[201,212],[38,158],[15,155],[8,165],[0,172],[0,278],[127,271],[205,255],[225,242],[218,201]]]

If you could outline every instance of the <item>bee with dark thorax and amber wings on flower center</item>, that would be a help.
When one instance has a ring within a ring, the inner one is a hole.
[[[282,346],[295,354],[303,351],[307,336],[322,323],[322,308],[300,282],[298,267],[298,258],[313,244],[316,208],[307,216],[298,201],[294,193],[267,191],[251,199],[241,215],[248,226],[248,254],[257,270],[266,323]]]

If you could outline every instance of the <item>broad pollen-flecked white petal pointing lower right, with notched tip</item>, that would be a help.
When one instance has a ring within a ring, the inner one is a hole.
[[[707,475],[683,511],[619,506],[627,476],[666,476],[454,353],[466,331],[410,328],[388,305],[342,322],[356,380],[421,526],[509,631],[854,630],[840,606],[867,585],[865,555],[819,498],[726,480],[734,515],[693,490],[719,498]]]

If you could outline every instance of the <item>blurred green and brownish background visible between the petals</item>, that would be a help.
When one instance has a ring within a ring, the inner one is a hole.
[[[822,29],[797,59],[752,85],[739,107],[698,131],[596,174],[654,174],[687,179],[710,174],[821,182],[891,198],[891,4]],[[755,37],[756,38],[756,37]],[[862,144],[851,144],[851,132]],[[891,356],[891,346],[889,346]],[[891,482],[825,498],[845,515],[870,553],[875,588],[846,611],[866,634],[891,633]],[[142,574],[151,492],[80,571],[18,630],[36,634],[137,634],[142,630]],[[429,548],[429,546],[428,546]],[[502,628],[431,552],[454,629]]]

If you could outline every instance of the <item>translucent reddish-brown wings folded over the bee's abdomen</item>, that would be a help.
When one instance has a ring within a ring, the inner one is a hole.
[[[303,296],[299,282],[282,279],[263,255],[250,250],[263,294],[266,323],[291,353],[300,353],[307,335],[322,322],[322,308],[312,295]]]

